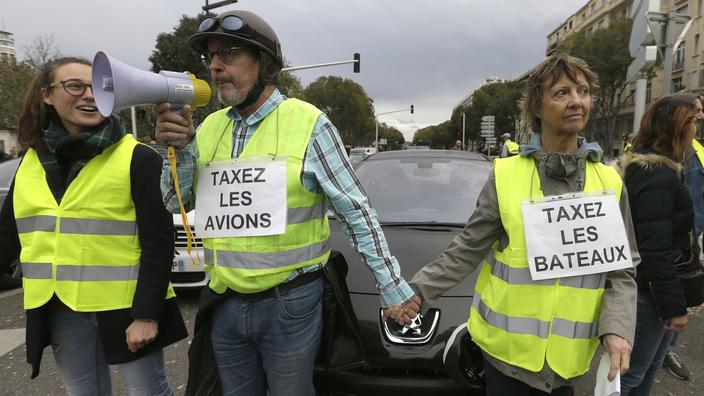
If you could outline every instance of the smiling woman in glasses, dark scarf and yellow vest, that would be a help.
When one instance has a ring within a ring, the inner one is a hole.
[[[98,113],[91,63],[60,58],[30,83],[26,151],[0,210],[0,273],[19,257],[32,378],[51,345],[69,395],[173,395],[163,348],[187,336],[169,276],[161,157]]]

